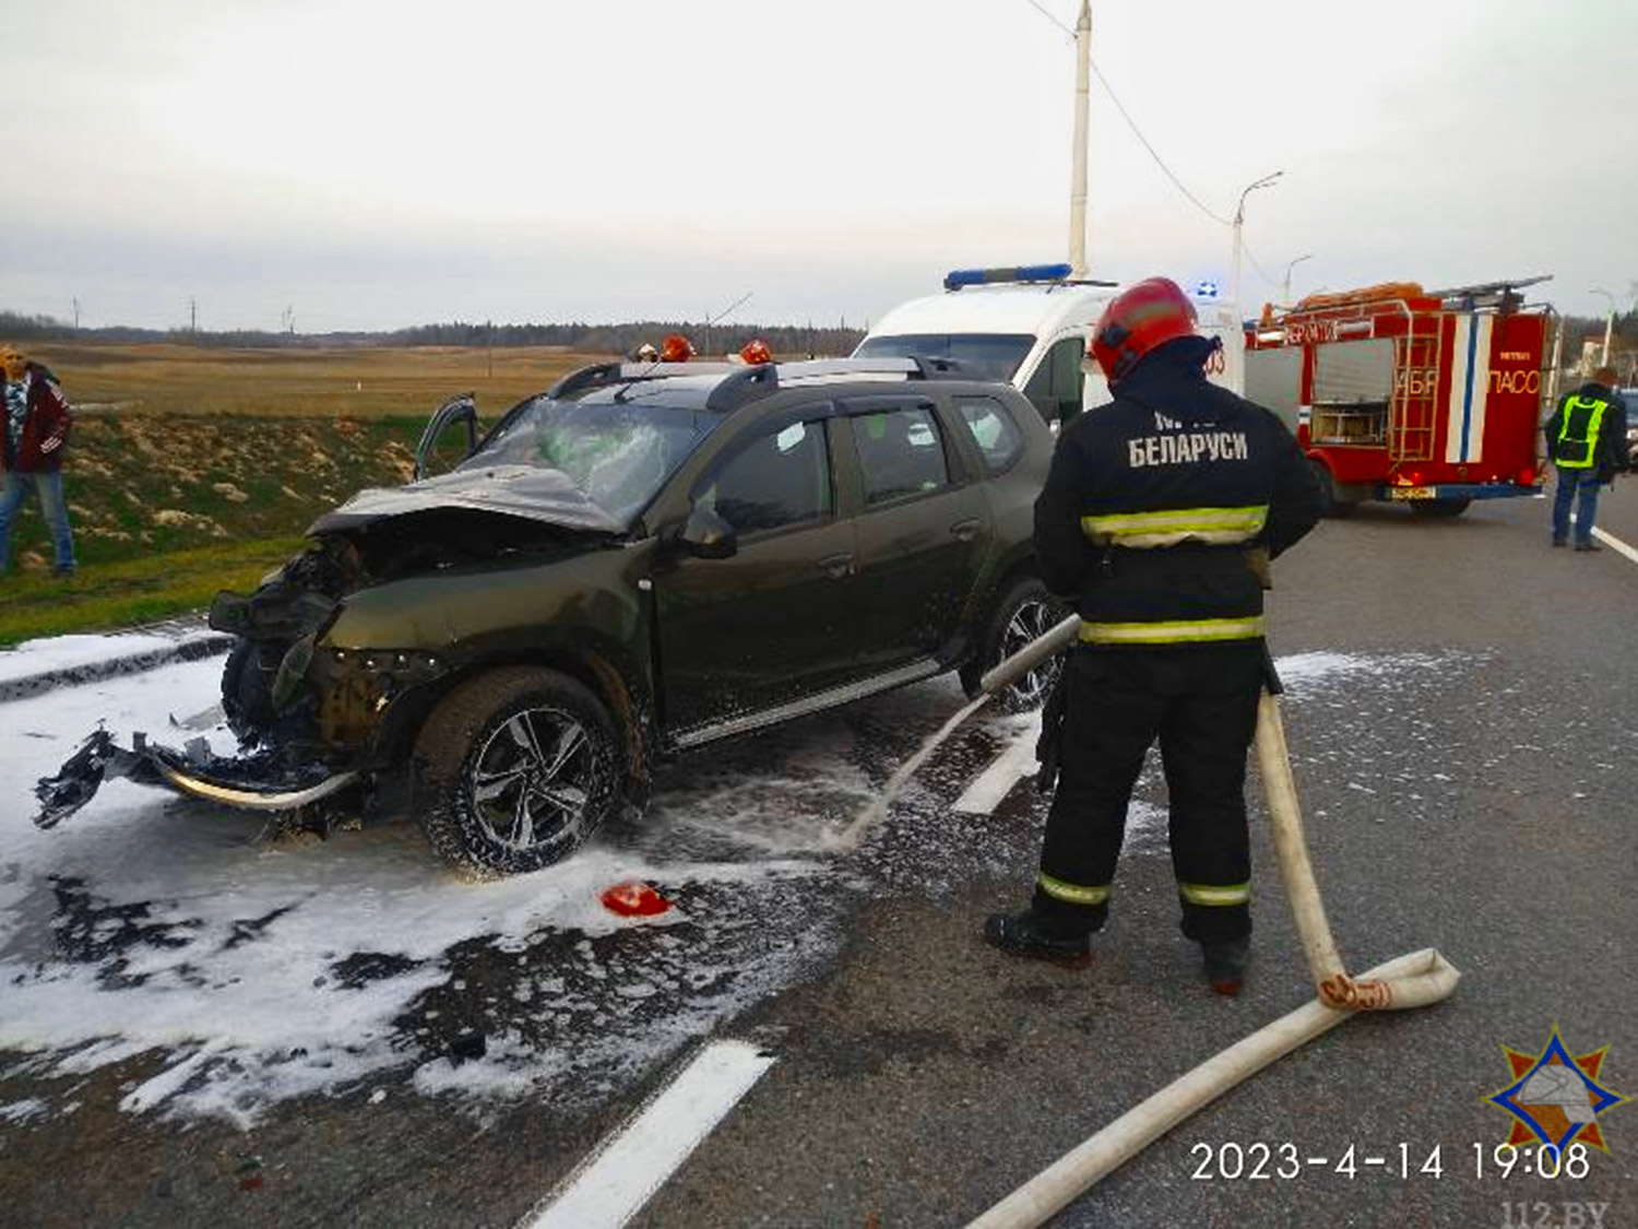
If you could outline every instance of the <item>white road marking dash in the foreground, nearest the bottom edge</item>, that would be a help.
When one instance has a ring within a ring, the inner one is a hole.
[[[618,1229],[773,1065],[744,1041],[706,1045],[603,1147],[575,1167],[521,1229]]]

